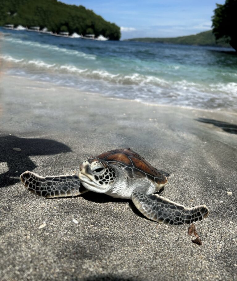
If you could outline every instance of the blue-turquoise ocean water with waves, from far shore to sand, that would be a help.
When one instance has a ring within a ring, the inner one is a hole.
[[[2,71],[11,75],[144,103],[237,109],[230,49],[0,32]]]

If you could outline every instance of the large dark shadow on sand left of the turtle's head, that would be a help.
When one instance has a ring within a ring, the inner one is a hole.
[[[0,147],[2,150],[0,162],[6,162],[8,166],[8,171],[0,174],[0,188],[19,182],[21,173],[36,168],[35,163],[31,161],[29,156],[52,155],[72,151],[67,145],[58,141],[17,136],[0,136]],[[13,148],[20,148],[21,151],[15,151]]]

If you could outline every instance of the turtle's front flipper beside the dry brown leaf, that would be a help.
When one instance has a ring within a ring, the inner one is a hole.
[[[185,224],[196,222],[207,217],[206,205],[186,208],[158,194],[132,193],[132,202],[147,218],[167,224]]]

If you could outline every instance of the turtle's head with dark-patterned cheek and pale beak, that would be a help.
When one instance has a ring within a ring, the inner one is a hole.
[[[90,191],[106,193],[113,187],[115,177],[115,170],[99,158],[87,158],[80,164],[79,179]]]

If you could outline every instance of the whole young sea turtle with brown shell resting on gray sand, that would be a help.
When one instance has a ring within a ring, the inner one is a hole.
[[[145,217],[156,222],[184,224],[206,218],[206,205],[186,208],[154,194],[167,183],[168,176],[127,148],[83,160],[78,176],[40,177],[26,171],[21,181],[31,192],[46,198],[78,196],[90,190],[131,199]]]

